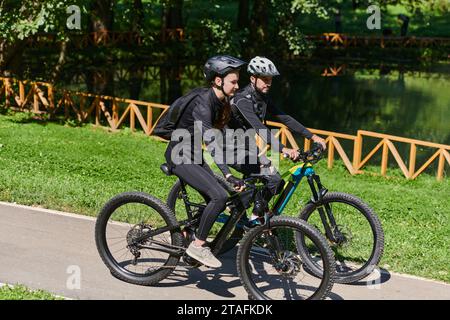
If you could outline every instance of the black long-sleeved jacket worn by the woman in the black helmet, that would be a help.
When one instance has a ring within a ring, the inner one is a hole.
[[[185,95],[184,97],[187,97]],[[186,98],[187,99],[187,98]],[[223,103],[217,98],[214,90],[212,88],[205,88],[202,90],[197,97],[192,99],[192,101],[186,106],[183,111],[183,114],[177,124],[176,129],[185,129],[190,133],[191,139],[189,141],[184,141],[183,143],[190,143],[191,152],[188,155],[184,155],[188,158],[191,163],[194,163],[195,160],[200,160],[199,164],[204,163],[203,159],[203,151],[201,149],[201,142],[203,141],[208,148],[208,145],[214,141],[212,138],[202,139],[203,133],[208,130],[214,128],[214,123],[219,117],[220,109],[223,107]],[[200,121],[201,126],[196,126],[195,122]],[[198,141],[194,141],[194,131],[200,133],[202,137]],[[174,135],[172,133],[172,135]],[[181,142],[179,141],[170,141],[167,146],[165,152],[165,158],[169,165],[176,166],[176,164],[171,159],[171,154],[173,148]],[[208,148],[209,150],[209,148]],[[211,152],[214,157],[214,152]],[[230,173],[230,170],[225,164],[217,164],[219,169],[222,171],[224,175]]]

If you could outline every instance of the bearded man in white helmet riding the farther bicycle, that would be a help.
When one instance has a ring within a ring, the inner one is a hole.
[[[280,75],[273,62],[265,57],[254,57],[248,64],[247,71],[250,74],[250,84],[237,92],[232,98],[232,113],[228,127],[234,130],[243,129],[244,131],[254,129],[267,144],[272,144],[272,141],[275,141],[277,138],[270,133],[264,122],[268,119],[273,119],[286,125],[292,132],[319,143],[325,150],[325,140],[312,134],[293,117],[279,110],[269,98],[268,93],[272,85],[272,78]],[[269,134],[266,135],[265,133]],[[297,150],[286,148],[281,143],[277,145],[278,149],[276,151],[288,155],[289,158],[296,159],[299,156]],[[239,148],[242,148],[242,146],[238,146],[237,149]],[[245,146],[245,148],[249,149],[248,146]],[[271,167],[270,161],[265,156],[256,157],[257,161],[250,161],[251,153],[250,150],[245,150],[245,161],[243,163],[240,161],[241,163],[229,165],[243,173],[244,176],[260,174],[263,168]],[[266,188],[255,200],[250,225],[257,222],[257,217],[264,215],[264,212],[268,210],[267,204],[269,200],[280,191],[280,183],[282,181],[280,174],[273,168],[269,172],[271,174],[267,176]],[[229,177],[232,177],[231,174]]]

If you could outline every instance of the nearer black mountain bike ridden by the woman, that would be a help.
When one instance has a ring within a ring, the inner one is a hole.
[[[167,166],[162,169],[170,174]],[[260,179],[263,177],[251,177],[246,180],[246,191],[231,192],[227,221],[220,224],[213,239],[208,239],[213,254],[223,250],[242,221],[246,203],[255,197]],[[184,183],[181,190],[185,194]],[[183,199],[186,216],[181,219],[166,204],[142,192],[122,193],[105,204],[97,218],[95,239],[103,262],[115,277],[151,286],[178,265],[201,265],[185,251],[205,204]],[[317,249],[315,258],[323,266],[320,278],[306,272],[298,252],[298,235]],[[298,218],[274,215],[266,216],[264,223],[245,233],[236,263],[249,298],[258,300],[323,299],[333,286],[336,269],[333,252],[318,230]]]

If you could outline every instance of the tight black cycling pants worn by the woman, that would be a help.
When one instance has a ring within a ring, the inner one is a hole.
[[[217,216],[225,209],[228,200],[227,191],[219,184],[207,164],[180,164],[172,172],[183,182],[200,192],[208,202],[203,210],[196,237],[206,241]]]

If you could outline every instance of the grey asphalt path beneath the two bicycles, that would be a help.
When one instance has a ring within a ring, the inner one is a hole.
[[[223,267],[177,268],[153,287],[114,278],[94,240],[95,218],[0,202],[0,282],[23,284],[72,299],[247,299],[235,266],[236,251]],[[332,300],[450,299],[450,285],[387,270],[375,270],[352,285],[335,284]]]

